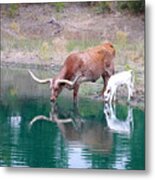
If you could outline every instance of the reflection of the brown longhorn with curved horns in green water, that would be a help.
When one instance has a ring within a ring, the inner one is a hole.
[[[112,149],[112,132],[110,132],[103,119],[99,121],[99,117],[81,115],[78,108],[72,111],[64,112],[67,118],[62,117],[62,110],[58,106],[52,106],[49,117],[39,115],[34,117],[29,123],[30,128],[35,125],[38,120],[50,121],[56,123],[63,137],[70,145],[75,147],[86,147],[91,151],[101,151],[104,153],[111,152]]]

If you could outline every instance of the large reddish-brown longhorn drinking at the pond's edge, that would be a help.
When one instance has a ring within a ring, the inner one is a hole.
[[[73,89],[76,102],[80,84],[87,81],[95,82],[100,76],[104,80],[101,93],[103,95],[110,76],[114,74],[114,57],[115,49],[111,43],[107,42],[84,52],[70,54],[59,74],[54,78],[39,79],[30,70],[29,73],[36,82],[50,84],[52,102],[56,101],[64,87]]]

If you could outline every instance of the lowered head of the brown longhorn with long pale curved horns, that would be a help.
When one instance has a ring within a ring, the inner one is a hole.
[[[40,84],[49,84],[50,90],[51,90],[51,97],[50,100],[52,102],[55,102],[57,97],[59,96],[59,94],[61,93],[63,87],[67,84],[70,87],[74,86],[74,83],[76,82],[76,80],[74,82],[69,81],[67,79],[56,79],[56,78],[47,78],[47,79],[39,79],[37,78],[32,71],[28,70],[29,74],[31,75],[31,77],[38,83]]]

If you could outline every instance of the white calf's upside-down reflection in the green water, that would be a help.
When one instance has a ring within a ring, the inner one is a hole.
[[[106,103],[104,105],[104,114],[107,121],[108,128],[119,134],[125,134],[130,137],[133,130],[133,110],[128,106],[128,113],[126,119],[118,119],[116,117],[116,106],[114,108],[111,103]]]

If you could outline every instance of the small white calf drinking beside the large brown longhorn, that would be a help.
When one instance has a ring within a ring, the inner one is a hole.
[[[112,102],[116,99],[116,90],[118,86],[127,85],[128,88],[128,102],[133,96],[134,91],[134,73],[133,70],[123,71],[117,74],[114,74],[110,77],[108,81],[107,88],[104,92],[104,100],[106,102]]]

